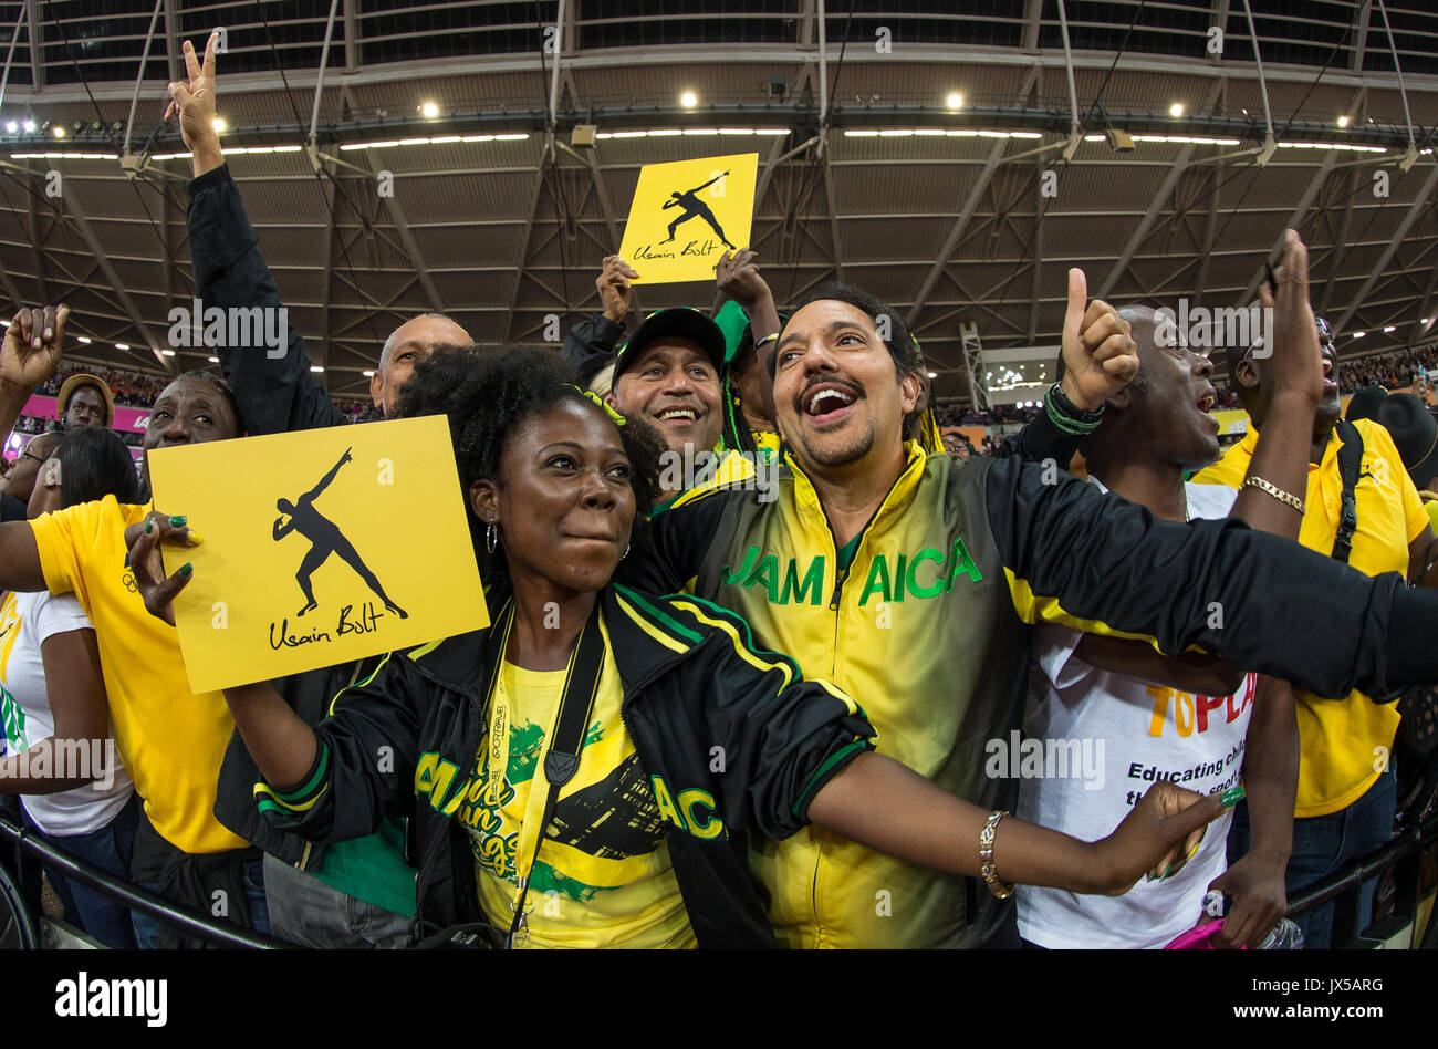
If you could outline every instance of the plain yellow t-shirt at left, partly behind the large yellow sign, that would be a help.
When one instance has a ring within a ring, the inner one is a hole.
[[[30,521],[45,586],[73,593],[95,625],[115,745],[155,830],[190,853],[243,849],[214,819],[230,708],[221,692],[190,691],[175,629],[145,612],[125,566],[125,528],[147,512],[109,495]]]

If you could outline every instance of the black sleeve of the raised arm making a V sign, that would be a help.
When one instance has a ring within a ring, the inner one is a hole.
[[[260,256],[259,237],[227,164],[190,183],[186,224],[196,296],[204,309],[282,309],[279,288]],[[305,340],[288,322],[288,314],[280,317],[286,318],[283,351],[211,347],[234,390],[244,432],[253,436],[339,426],[347,419],[315,381]]]

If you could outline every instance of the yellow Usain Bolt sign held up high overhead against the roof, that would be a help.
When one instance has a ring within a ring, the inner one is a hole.
[[[758,171],[756,153],[640,168],[620,245],[634,283],[713,281],[719,256],[749,243]]]

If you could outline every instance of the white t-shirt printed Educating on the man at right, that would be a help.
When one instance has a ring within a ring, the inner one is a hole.
[[[1191,518],[1228,517],[1238,495],[1222,485],[1183,488]],[[1020,819],[1091,842],[1113,833],[1158,778],[1201,794],[1238,783],[1257,675],[1231,696],[1188,695],[1089,666],[1074,655],[1081,639],[1071,627],[1038,629],[1024,735],[1044,740],[1045,750],[1089,747],[1093,760],[1074,763],[1087,780],[1022,778]],[[1227,869],[1229,822],[1231,813],[1214,820],[1176,875],[1140,879],[1122,896],[1018,886],[1020,935],[1050,948],[1163,947],[1204,918],[1208,885]]]

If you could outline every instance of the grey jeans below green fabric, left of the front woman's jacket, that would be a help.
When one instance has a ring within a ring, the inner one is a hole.
[[[312,873],[265,856],[265,892],[276,937],[301,947],[408,947],[410,918],[348,896]]]

